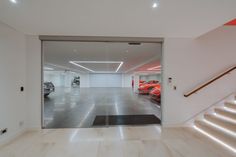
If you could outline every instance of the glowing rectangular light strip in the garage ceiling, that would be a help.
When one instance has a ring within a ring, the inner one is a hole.
[[[78,66],[78,67],[80,67],[80,68],[83,68],[83,69],[85,69],[85,70],[88,70],[88,71],[90,71],[90,72],[93,72],[93,73],[104,73],[104,71],[94,71],[94,70],[89,69],[89,68],[87,68],[87,67],[85,67],[85,66],[82,66],[81,63],[91,63],[91,64],[94,64],[94,63],[103,63],[103,64],[118,63],[119,66],[118,66],[118,68],[116,69],[116,71],[111,71],[111,73],[112,73],[112,72],[116,72],[116,73],[117,73],[117,72],[119,71],[119,69],[121,68],[121,66],[123,65],[124,62],[122,62],[122,61],[69,61],[69,63],[71,63],[71,64],[73,64],[73,65],[75,65],[75,66]]]

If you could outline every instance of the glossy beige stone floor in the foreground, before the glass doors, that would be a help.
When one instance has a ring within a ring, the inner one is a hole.
[[[191,128],[159,126],[30,131],[1,157],[235,157]]]

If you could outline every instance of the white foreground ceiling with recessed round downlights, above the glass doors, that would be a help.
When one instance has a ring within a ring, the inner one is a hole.
[[[0,0],[0,21],[26,34],[197,37],[236,17],[236,0]]]

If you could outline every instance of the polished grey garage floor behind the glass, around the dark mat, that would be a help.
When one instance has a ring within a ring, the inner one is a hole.
[[[91,127],[97,115],[154,114],[160,105],[132,88],[56,88],[44,99],[45,128]]]

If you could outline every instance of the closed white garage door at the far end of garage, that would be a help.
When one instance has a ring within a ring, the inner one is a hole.
[[[122,74],[90,74],[90,87],[122,87]]]

